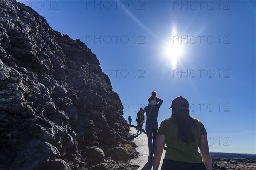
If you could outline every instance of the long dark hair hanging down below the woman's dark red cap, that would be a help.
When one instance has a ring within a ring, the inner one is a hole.
[[[172,108],[171,116],[178,125],[178,137],[189,144],[195,142],[195,134],[192,126],[195,126],[195,118],[190,116],[189,109]]]

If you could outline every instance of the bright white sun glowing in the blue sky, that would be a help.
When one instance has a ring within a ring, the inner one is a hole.
[[[164,48],[165,57],[171,63],[172,68],[176,68],[177,61],[183,54],[182,44],[179,42],[169,42]]]

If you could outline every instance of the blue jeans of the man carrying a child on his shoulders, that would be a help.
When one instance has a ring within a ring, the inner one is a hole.
[[[148,136],[149,155],[154,154],[154,148],[155,148],[156,140],[157,140],[157,130],[158,130],[157,122],[146,122],[146,133]]]

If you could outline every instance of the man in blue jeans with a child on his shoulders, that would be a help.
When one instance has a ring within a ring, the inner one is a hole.
[[[157,103],[159,101],[159,103]],[[158,111],[160,106],[163,103],[163,100],[157,97],[157,92],[153,91],[152,96],[148,99],[149,104],[144,108],[143,112],[140,115],[141,124],[144,124],[143,116],[146,112],[146,134],[148,136],[148,150],[149,156],[148,159],[153,158],[154,148],[157,139],[157,130],[158,130]]]

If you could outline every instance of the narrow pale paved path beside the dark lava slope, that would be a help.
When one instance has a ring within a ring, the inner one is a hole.
[[[138,170],[151,170],[153,161],[152,159],[148,159],[149,151],[148,151],[148,137],[145,132],[142,134],[137,133],[137,129],[134,127],[130,127],[130,134],[134,137],[134,143],[138,146],[136,151],[139,152],[139,157],[136,159],[132,159],[130,161],[131,165],[140,166]],[[162,159],[160,162],[159,170],[161,169],[162,162],[164,159],[165,150],[163,150]]]

